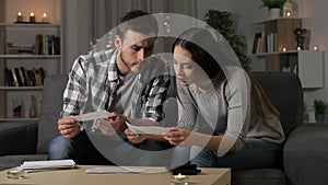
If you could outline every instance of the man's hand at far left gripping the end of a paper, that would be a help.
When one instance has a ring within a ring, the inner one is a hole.
[[[62,118],[57,122],[58,130],[65,138],[72,138],[80,132],[79,123],[72,118]]]

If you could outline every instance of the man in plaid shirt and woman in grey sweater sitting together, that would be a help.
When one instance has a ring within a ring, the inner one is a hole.
[[[279,112],[229,44],[211,30],[191,27],[177,37],[167,59],[152,56],[156,35],[152,15],[131,11],[119,20],[116,47],[75,60],[58,120],[61,136],[50,142],[49,160],[167,166],[185,154],[175,149],[186,148],[189,157],[180,164],[272,166],[284,140]],[[163,104],[171,85],[178,104],[175,127],[162,135],[127,128],[126,122],[165,126]],[[68,117],[102,109],[115,115],[82,125]]]

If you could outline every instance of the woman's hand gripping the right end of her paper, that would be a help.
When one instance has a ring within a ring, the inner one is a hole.
[[[174,146],[188,147],[192,144],[190,138],[188,138],[190,134],[191,131],[189,130],[173,127],[167,132],[162,134],[162,136]]]

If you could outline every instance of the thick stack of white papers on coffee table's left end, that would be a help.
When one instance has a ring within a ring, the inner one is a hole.
[[[75,166],[73,160],[52,160],[52,161],[25,161],[17,170],[24,172],[37,172],[56,169],[72,169]]]

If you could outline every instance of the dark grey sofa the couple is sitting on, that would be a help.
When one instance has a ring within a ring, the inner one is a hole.
[[[328,124],[302,124],[303,90],[291,72],[254,72],[281,113],[286,141],[281,160],[271,169],[232,173],[233,185],[324,185],[328,184]],[[45,160],[48,142],[58,135],[57,119],[62,105],[67,76],[45,80],[38,123],[0,123],[0,169],[26,160]],[[260,153],[259,153],[260,154]]]

